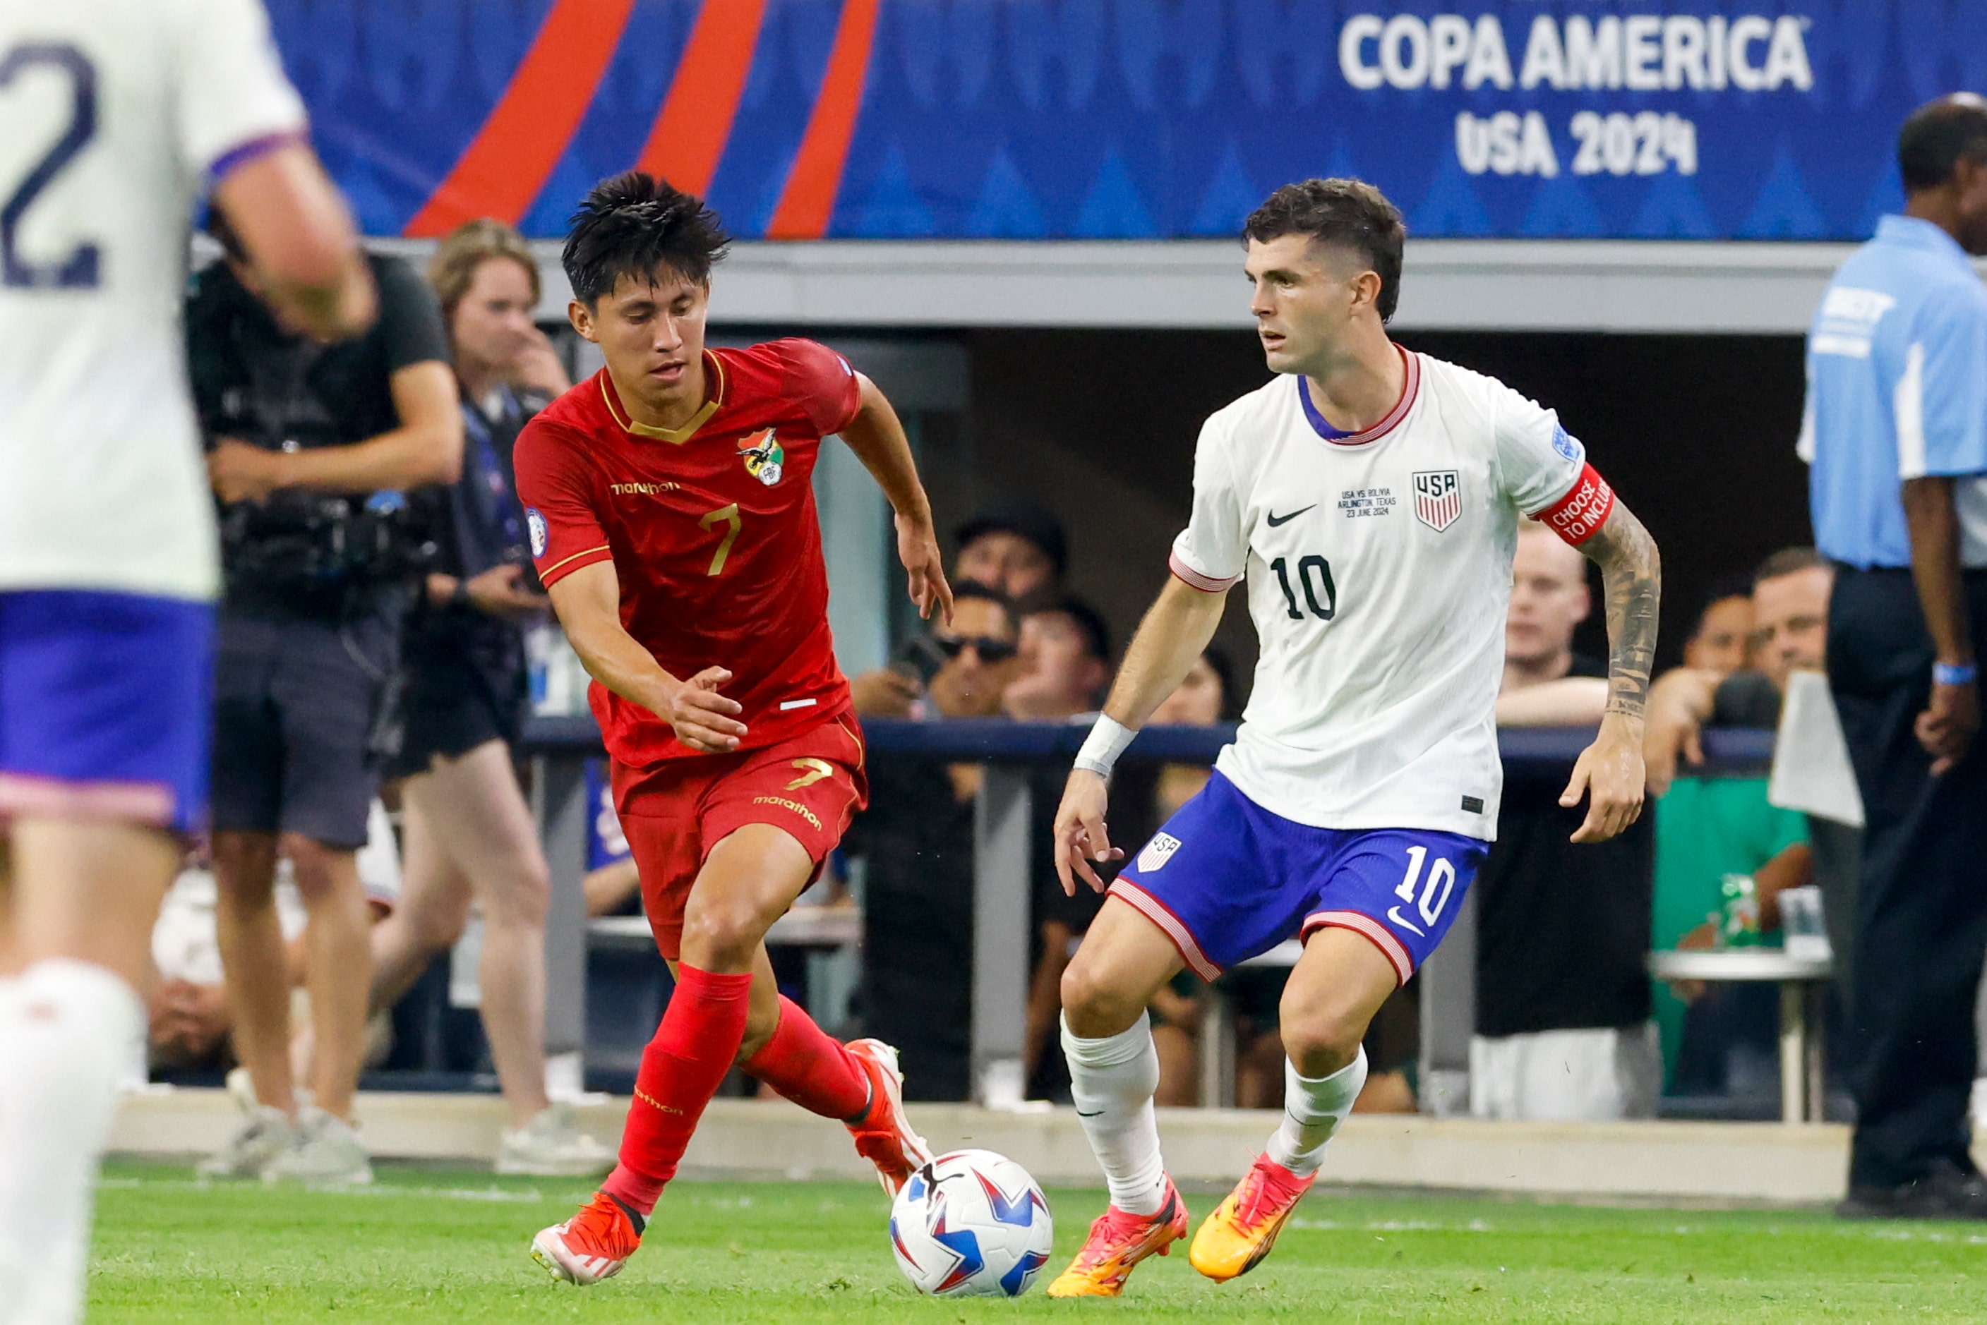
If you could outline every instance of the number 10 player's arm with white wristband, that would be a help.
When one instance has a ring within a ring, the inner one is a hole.
[[[1105,824],[1111,763],[1145,719],[1152,717],[1152,709],[1186,679],[1214,638],[1214,628],[1222,624],[1226,604],[1228,590],[1210,594],[1168,576],[1166,588],[1158,590],[1139,622],[1139,634],[1125,648],[1125,662],[1111,683],[1105,713],[1083,743],[1055,810],[1055,874],[1063,880],[1065,894],[1077,894],[1079,878],[1093,892],[1103,892],[1105,882],[1097,876],[1095,862],[1125,854],[1111,846]]]

